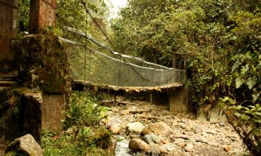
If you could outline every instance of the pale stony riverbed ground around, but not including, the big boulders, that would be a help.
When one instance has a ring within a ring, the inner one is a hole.
[[[150,149],[162,145],[169,146],[168,154],[165,155],[185,155],[185,156],[242,156],[247,154],[242,140],[232,127],[223,122],[200,123],[193,114],[171,114],[167,107],[150,105],[136,101],[132,105],[118,105],[111,107],[111,112],[106,120],[106,124],[118,139],[116,146],[116,156],[129,155],[159,155],[157,151],[145,154],[140,151],[135,153],[128,148],[129,141],[134,138],[143,139],[135,132],[129,132],[128,124],[139,122],[144,126],[150,123],[163,121],[172,130],[172,135],[162,136],[166,140],[164,144],[149,143]],[[163,155],[161,153],[161,155]]]

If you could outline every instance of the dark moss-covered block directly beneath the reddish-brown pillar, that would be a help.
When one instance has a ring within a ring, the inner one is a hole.
[[[19,46],[19,84],[45,94],[68,94],[68,55],[53,33],[26,35]]]

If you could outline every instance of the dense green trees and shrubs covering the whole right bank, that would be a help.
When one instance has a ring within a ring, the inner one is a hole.
[[[224,106],[260,155],[260,9],[258,0],[129,0],[112,22],[114,40],[124,53],[167,66],[173,53],[188,55],[191,104]]]

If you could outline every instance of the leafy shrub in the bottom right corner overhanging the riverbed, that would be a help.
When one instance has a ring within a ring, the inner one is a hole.
[[[230,123],[237,133],[243,138],[244,144],[253,155],[261,153],[261,106],[256,105],[237,105],[232,98],[220,98],[221,105]]]

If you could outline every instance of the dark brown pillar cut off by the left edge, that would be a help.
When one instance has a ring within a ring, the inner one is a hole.
[[[0,0],[0,77],[16,74],[10,40],[17,37],[17,0]]]

